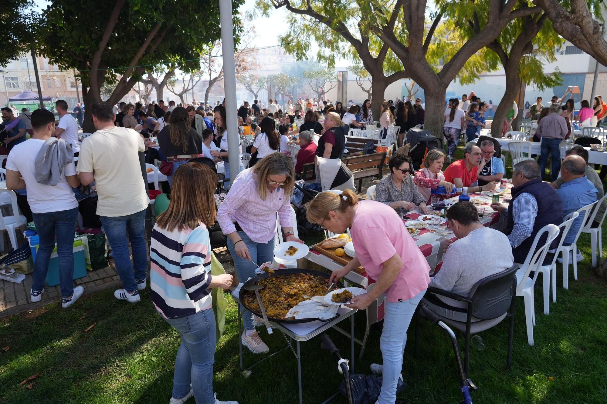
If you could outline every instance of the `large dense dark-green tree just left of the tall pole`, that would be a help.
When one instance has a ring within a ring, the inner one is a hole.
[[[232,9],[242,2],[232,0]],[[204,18],[200,10],[205,10]],[[106,81],[116,84],[107,100],[113,104],[151,67],[200,69],[206,44],[220,36],[219,4],[208,0],[55,0],[42,17],[38,39],[42,55],[63,70],[80,70],[87,105],[101,101]],[[234,20],[237,41],[237,14]],[[93,129],[89,108],[84,126],[89,132]]]

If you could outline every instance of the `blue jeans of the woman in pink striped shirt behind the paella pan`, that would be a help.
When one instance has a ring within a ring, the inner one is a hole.
[[[239,257],[239,255],[236,254],[234,243],[232,243],[232,240],[228,237],[228,250],[234,260],[236,274],[238,275],[240,283],[245,283],[248,278],[255,276],[255,270],[261,264],[274,259],[274,237],[267,243],[256,243],[255,241],[251,241],[245,232],[238,232],[238,235],[249,249],[251,260],[257,263],[257,266],[255,266],[246,258]],[[245,310],[245,306],[243,305],[240,305],[240,311],[243,312],[242,321],[245,323],[245,329],[255,329],[255,326],[253,325],[253,313]]]

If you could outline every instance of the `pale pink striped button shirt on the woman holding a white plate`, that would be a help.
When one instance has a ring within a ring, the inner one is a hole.
[[[280,226],[293,227],[290,197],[279,188],[274,192],[268,191],[266,200],[262,200],[257,192],[253,168],[243,170],[217,210],[217,222],[223,234],[235,232],[234,221],[237,221],[251,240],[267,243],[276,234],[276,212],[280,217]]]

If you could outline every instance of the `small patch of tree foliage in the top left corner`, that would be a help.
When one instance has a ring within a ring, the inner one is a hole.
[[[29,52],[40,16],[32,7],[31,0],[5,0],[0,8],[0,32],[2,32],[2,47],[0,48],[0,66],[18,59]],[[8,100],[7,100],[8,102]]]

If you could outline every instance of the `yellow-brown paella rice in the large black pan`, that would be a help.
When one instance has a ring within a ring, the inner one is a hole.
[[[263,286],[259,291],[263,308],[268,317],[273,318],[285,318],[285,315],[302,301],[339,289],[333,286],[327,290],[326,277],[305,273],[275,274],[257,281],[256,284]],[[245,292],[244,303],[252,311],[260,311],[254,292]]]

